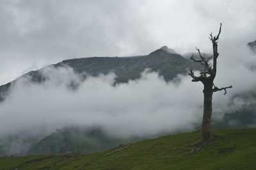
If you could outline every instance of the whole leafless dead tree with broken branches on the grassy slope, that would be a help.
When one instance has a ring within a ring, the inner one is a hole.
[[[221,24],[220,30],[217,36],[212,37],[212,33],[210,34],[209,39],[212,42],[213,49],[213,63],[210,64],[209,60],[205,59],[205,53],[202,55],[199,48],[196,48],[200,59],[195,59],[194,55],[191,56],[191,60],[195,62],[199,62],[202,65],[202,71],[200,72],[200,76],[195,76],[193,71],[191,70],[189,75],[191,76],[193,82],[201,81],[204,84],[204,115],[202,121],[202,142],[208,143],[212,140],[211,136],[211,116],[212,116],[212,94],[213,92],[218,92],[224,90],[224,95],[227,94],[227,89],[232,88],[232,85],[228,87],[218,88],[214,85],[214,78],[216,76],[217,71],[217,59],[219,56],[218,53],[218,39],[220,37],[221,32]]]

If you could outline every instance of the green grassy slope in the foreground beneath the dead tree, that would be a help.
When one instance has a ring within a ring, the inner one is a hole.
[[[256,129],[214,131],[214,141],[191,148],[199,132],[175,134],[81,155],[31,155],[0,158],[0,169],[255,169]]]

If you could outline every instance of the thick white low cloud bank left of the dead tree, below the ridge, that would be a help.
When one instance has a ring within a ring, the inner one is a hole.
[[[147,136],[159,132],[189,131],[197,122],[202,101],[200,85],[188,76],[169,82],[157,73],[113,86],[115,74],[81,75],[70,67],[47,67],[47,80],[22,78],[0,105],[0,134],[33,127],[100,126],[114,136]],[[70,88],[70,82],[77,89]],[[184,96],[186,94],[186,96]]]

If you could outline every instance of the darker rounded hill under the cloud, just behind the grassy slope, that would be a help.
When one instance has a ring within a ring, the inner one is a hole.
[[[138,138],[107,136],[100,127],[64,127],[35,143],[26,155],[56,154],[65,152],[95,153],[115,146],[138,141]]]

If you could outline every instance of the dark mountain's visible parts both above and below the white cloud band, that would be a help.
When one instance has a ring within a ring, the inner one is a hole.
[[[129,80],[138,79],[145,69],[157,71],[166,81],[172,80],[177,74],[188,74],[189,69],[200,69],[198,64],[184,59],[167,46],[148,55],[69,59],[48,67],[62,66],[72,67],[77,74],[81,74],[84,78],[88,75],[98,76],[113,72],[116,74],[115,83],[126,83]],[[20,78],[29,77],[34,83],[42,83],[46,80],[42,69],[30,71]],[[8,92],[17,80],[0,87],[0,101],[3,101],[4,97],[8,97]],[[92,135],[92,131],[97,133]],[[104,135],[102,129],[66,127],[47,136],[13,134],[6,138],[0,138],[0,155],[52,154],[67,151],[93,153],[131,141],[136,141],[136,139],[110,138]]]

